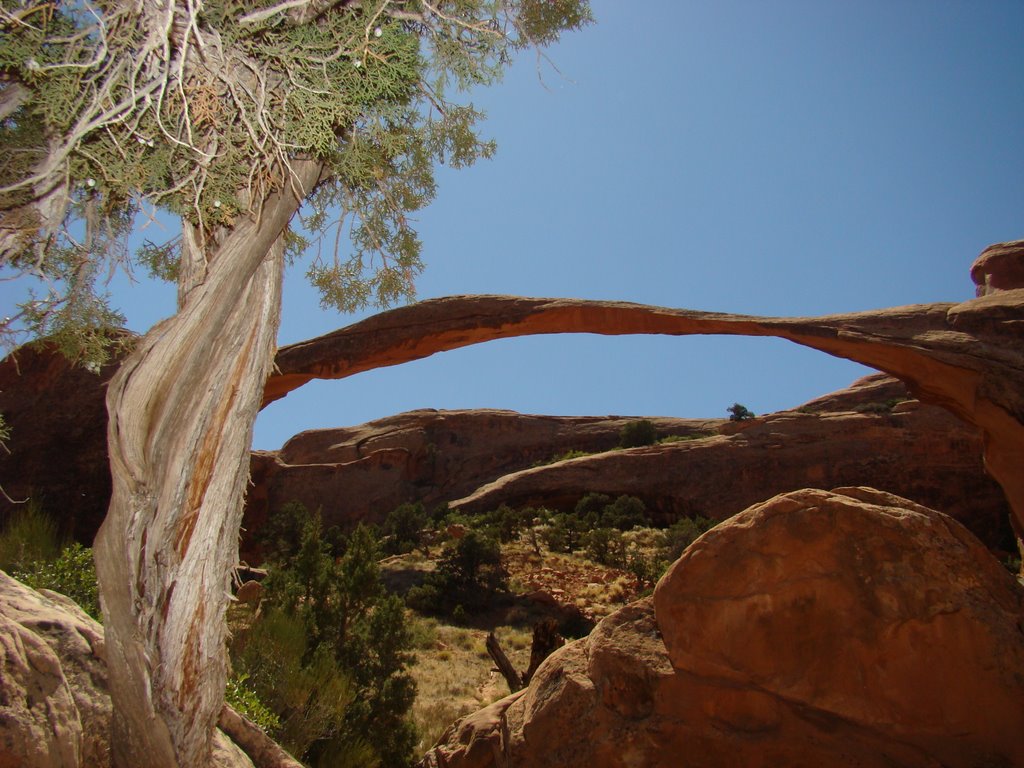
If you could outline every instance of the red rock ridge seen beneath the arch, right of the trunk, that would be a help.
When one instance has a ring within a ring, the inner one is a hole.
[[[1009,548],[1009,508],[985,474],[977,429],[909,398],[884,375],[794,411],[744,422],[651,419],[667,441],[617,449],[636,417],[417,411],[359,427],[303,432],[253,456],[245,526],[290,501],[327,524],[380,521],[407,501],[466,512],[502,504],[571,509],[585,495],[636,496],[660,523],[721,520],[766,496],[870,484],[961,520]],[[568,452],[587,456],[562,461]]]

